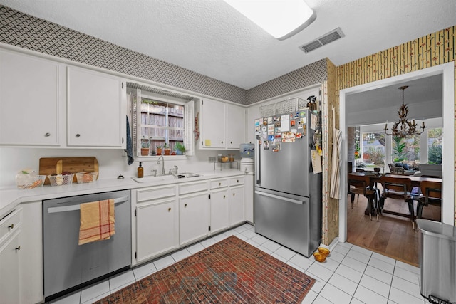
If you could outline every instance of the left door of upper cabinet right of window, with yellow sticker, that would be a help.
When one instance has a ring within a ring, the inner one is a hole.
[[[204,99],[201,103],[199,123],[201,147],[225,148],[224,103],[210,99]]]

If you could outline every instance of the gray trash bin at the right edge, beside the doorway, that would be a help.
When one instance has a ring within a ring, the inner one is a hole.
[[[456,226],[426,219],[416,222],[422,235],[421,295],[456,303]]]

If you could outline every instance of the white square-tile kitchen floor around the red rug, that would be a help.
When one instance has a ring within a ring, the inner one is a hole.
[[[244,224],[223,234],[212,236],[118,276],[90,285],[64,298],[53,300],[51,303],[93,303],[95,300],[104,298],[126,285],[170,266],[172,263],[231,235],[247,241],[247,243],[315,278],[316,283],[304,298],[303,304],[429,303],[420,295],[418,285],[420,268],[373,253],[365,248],[353,246],[350,243],[338,243],[326,262],[318,263],[313,256],[306,258],[256,234],[254,227],[250,224]]]

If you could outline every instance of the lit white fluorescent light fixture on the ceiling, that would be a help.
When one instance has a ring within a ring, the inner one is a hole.
[[[224,1],[279,40],[299,33],[316,19],[304,0]]]

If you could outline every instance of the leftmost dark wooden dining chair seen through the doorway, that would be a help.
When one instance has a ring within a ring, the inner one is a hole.
[[[348,174],[348,193],[351,194],[351,208],[355,194],[363,194],[368,199],[369,219],[372,221],[372,213],[377,209],[377,191],[368,175]],[[377,212],[378,221],[378,212]]]

